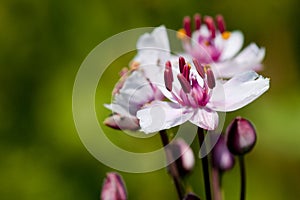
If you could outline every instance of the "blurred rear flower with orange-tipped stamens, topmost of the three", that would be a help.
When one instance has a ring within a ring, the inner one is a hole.
[[[178,36],[186,53],[201,64],[210,64],[217,77],[230,78],[244,71],[260,70],[265,49],[251,43],[238,53],[243,46],[243,34],[227,31],[222,15],[217,15],[215,21],[217,26],[211,16],[205,16],[202,23],[201,16],[195,14],[192,31],[190,17],[183,19]]]

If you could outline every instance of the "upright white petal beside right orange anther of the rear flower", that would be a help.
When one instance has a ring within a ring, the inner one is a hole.
[[[216,38],[216,45],[219,47],[222,45],[221,49],[223,49],[220,60],[232,58],[242,48],[243,43],[244,36],[240,31],[231,32],[230,37],[227,40],[224,40],[221,34],[218,35],[218,38]]]

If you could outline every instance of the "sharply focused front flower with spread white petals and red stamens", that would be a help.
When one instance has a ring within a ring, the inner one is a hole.
[[[203,66],[196,59],[189,64],[180,57],[173,64],[178,67],[173,68],[168,61],[164,74],[148,77],[156,84],[164,81],[157,87],[171,102],[153,101],[137,112],[145,133],[169,129],[188,120],[203,129],[214,130],[218,125],[217,111],[237,110],[269,88],[269,79],[254,71],[238,74],[224,82],[216,80],[210,66]]]

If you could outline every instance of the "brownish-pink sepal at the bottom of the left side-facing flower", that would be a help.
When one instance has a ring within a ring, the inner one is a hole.
[[[140,128],[137,118],[113,114],[104,120],[104,125],[117,130],[136,131]]]

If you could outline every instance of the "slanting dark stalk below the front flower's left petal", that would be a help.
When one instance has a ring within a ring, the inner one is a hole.
[[[166,130],[159,131],[159,135],[160,135],[161,141],[163,143],[163,146],[166,147],[169,144],[169,139],[168,139],[168,135],[167,135]],[[165,148],[165,152],[166,152],[167,161],[173,160],[173,156],[172,156],[171,152],[168,151],[168,149],[166,149],[166,148]],[[170,163],[169,170],[170,170],[170,174],[173,178],[173,182],[174,182],[175,187],[176,187],[178,198],[180,200],[182,200],[183,199],[183,192],[182,192],[182,189],[181,189],[180,177],[179,177],[177,166],[176,166],[175,162]]]

